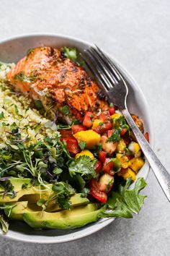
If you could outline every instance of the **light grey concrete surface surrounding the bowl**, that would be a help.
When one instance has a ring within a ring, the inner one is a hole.
[[[97,43],[138,81],[151,108],[155,149],[169,169],[170,1],[0,1],[0,40],[23,33],[73,35]],[[139,216],[67,244],[0,238],[0,255],[170,255],[170,208],[152,172]]]

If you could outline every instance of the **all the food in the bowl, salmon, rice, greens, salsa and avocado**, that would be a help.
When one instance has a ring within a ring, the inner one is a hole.
[[[17,64],[0,63],[0,101],[4,233],[11,219],[34,229],[75,229],[139,213],[143,152],[76,48],[35,48]]]

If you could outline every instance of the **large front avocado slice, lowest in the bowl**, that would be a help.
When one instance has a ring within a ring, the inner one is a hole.
[[[57,213],[23,213],[23,219],[35,229],[76,229],[97,221],[101,212],[101,209],[97,209],[96,204],[89,204]]]

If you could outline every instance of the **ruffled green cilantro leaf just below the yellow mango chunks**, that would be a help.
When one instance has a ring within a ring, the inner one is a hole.
[[[87,155],[81,155],[79,158],[73,159],[68,167],[71,176],[81,174],[86,176],[87,179],[95,178],[96,172],[94,170],[94,164],[96,160],[92,160]]]

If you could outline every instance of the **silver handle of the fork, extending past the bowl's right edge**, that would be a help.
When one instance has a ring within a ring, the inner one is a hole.
[[[122,114],[125,116],[125,119],[128,121],[130,128],[133,130],[133,133],[136,137],[136,140],[138,140],[140,148],[143,150],[144,155],[146,155],[148,163],[150,164],[156,176],[156,179],[158,179],[161,188],[163,189],[166,197],[170,202],[170,174],[168,173],[168,171],[166,171],[166,168],[164,168],[162,163],[158,160],[156,154],[151,149],[146,138],[143,136],[142,132],[140,132],[140,129],[135,124],[135,121],[133,121],[133,118],[130,115],[128,109],[123,109]]]

